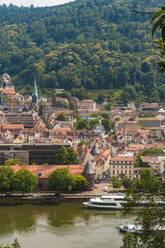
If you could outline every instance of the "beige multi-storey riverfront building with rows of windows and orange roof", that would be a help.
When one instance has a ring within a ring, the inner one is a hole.
[[[109,162],[110,177],[134,178],[134,158],[132,157],[112,157]]]

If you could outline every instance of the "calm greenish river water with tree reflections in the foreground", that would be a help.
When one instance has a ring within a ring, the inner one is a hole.
[[[0,244],[15,238],[21,248],[120,248],[117,227],[132,216],[84,209],[81,203],[0,207]]]

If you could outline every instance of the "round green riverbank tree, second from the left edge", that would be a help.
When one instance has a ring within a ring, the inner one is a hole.
[[[17,171],[13,178],[13,187],[15,190],[22,192],[32,192],[38,180],[30,171],[21,169]]]

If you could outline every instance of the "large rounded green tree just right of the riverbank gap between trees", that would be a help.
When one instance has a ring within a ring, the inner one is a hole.
[[[56,169],[48,177],[48,188],[59,192],[72,190],[73,176],[69,174],[68,168]]]

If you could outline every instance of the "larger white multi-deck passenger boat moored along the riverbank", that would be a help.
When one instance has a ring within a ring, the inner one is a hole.
[[[83,205],[86,208],[121,210],[122,203],[125,202],[124,198],[125,195],[103,195],[91,198],[88,202],[83,202]]]

